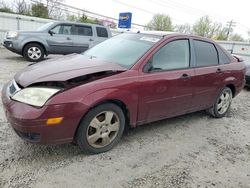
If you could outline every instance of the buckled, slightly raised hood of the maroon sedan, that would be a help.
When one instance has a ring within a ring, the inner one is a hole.
[[[35,63],[15,75],[15,81],[23,87],[48,81],[67,81],[79,76],[104,71],[126,71],[127,69],[86,55],[67,55]]]

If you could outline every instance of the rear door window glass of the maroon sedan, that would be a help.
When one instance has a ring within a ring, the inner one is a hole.
[[[217,65],[219,63],[218,53],[212,43],[194,40],[194,50],[197,67]]]

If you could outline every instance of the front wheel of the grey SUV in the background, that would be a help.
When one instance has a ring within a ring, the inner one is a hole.
[[[44,58],[44,49],[40,44],[30,43],[24,47],[23,56],[27,61],[39,62]]]

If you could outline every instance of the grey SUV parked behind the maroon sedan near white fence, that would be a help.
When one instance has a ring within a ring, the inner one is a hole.
[[[3,45],[38,62],[44,55],[81,53],[111,37],[108,27],[96,24],[50,22],[36,31],[9,31]]]

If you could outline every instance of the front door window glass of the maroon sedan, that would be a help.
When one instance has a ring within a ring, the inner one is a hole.
[[[173,70],[189,67],[189,41],[169,42],[158,50],[152,58],[152,70]]]

